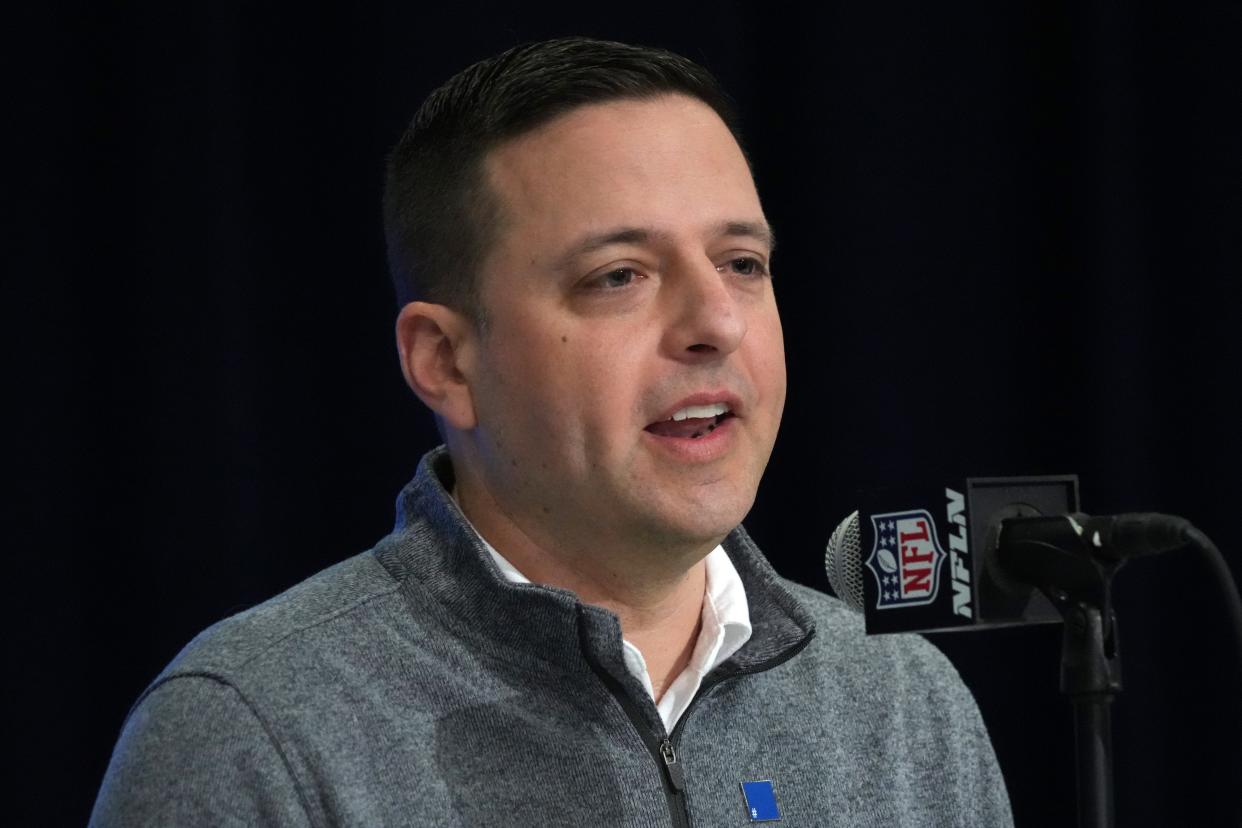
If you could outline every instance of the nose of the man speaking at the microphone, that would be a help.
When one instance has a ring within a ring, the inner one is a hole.
[[[678,268],[669,282],[668,345],[676,359],[718,359],[741,345],[746,318],[728,274],[700,259]]]

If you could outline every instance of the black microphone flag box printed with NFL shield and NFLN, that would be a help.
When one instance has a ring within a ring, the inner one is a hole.
[[[1051,623],[1038,591],[990,564],[1006,518],[1078,511],[1072,474],[949,479],[863,493],[858,555],[868,633]]]

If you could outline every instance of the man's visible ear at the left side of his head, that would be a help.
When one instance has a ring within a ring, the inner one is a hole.
[[[411,302],[396,318],[396,348],[410,389],[445,421],[468,431],[477,425],[467,381],[476,341],[473,324],[442,304]]]

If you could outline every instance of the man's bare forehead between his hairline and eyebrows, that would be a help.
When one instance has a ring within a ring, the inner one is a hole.
[[[498,247],[615,227],[673,237],[763,221],[733,134],[681,94],[579,107],[498,146],[486,174],[504,217]]]

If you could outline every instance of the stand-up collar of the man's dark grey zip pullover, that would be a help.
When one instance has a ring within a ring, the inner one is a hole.
[[[461,634],[482,638],[497,655],[524,652],[568,672],[587,669],[585,657],[633,698],[645,696],[626,669],[616,614],[581,603],[568,590],[508,582],[448,494],[452,485],[452,463],[441,446],[419,463],[397,497],[394,533],[375,549],[406,598],[430,603],[426,610]],[[741,526],[722,545],[745,586],[753,634],[713,674],[768,669],[801,649],[814,624]]]

